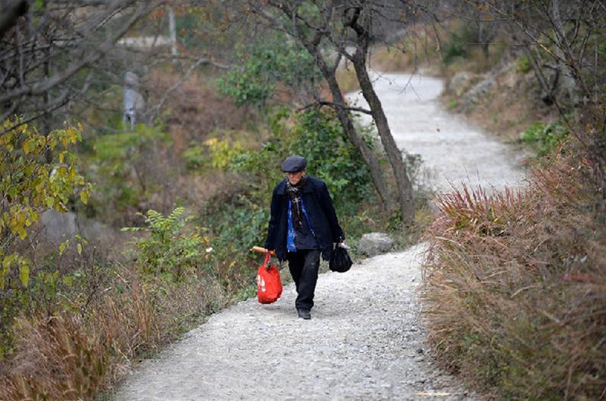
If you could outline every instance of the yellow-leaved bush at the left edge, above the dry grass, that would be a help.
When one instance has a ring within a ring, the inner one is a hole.
[[[0,290],[13,276],[27,287],[32,262],[15,247],[27,238],[28,228],[38,222],[42,211],[67,211],[76,196],[86,203],[92,186],[76,170],[76,157],[70,150],[82,140],[81,127],[66,126],[43,134],[13,119],[3,122],[2,131]]]

